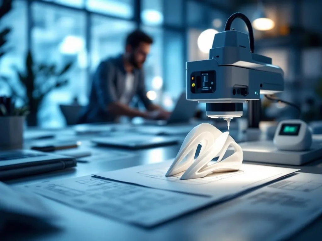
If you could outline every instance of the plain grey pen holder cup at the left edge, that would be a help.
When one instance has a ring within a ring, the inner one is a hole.
[[[24,120],[24,116],[0,116],[0,149],[23,147]]]

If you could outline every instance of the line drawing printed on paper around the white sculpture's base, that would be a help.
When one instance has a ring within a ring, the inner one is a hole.
[[[167,168],[155,168],[155,169],[151,169],[151,170],[137,172],[137,174],[139,174],[141,176],[145,176],[145,177],[162,179],[162,180],[167,180],[167,181],[171,181],[171,182],[186,183],[189,185],[191,185],[191,184],[202,185],[202,184],[208,184],[208,183],[212,183],[212,182],[219,181],[222,179],[230,178],[235,175],[240,175],[244,172],[242,170],[239,170],[236,172],[213,173],[213,174],[210,174],[210,175],[205,176],[203,178],[180,180],[180,177],[183,173],[179,173],[174,176],[166,177],[165,175],[166,175],[167,170],[168,170]]]

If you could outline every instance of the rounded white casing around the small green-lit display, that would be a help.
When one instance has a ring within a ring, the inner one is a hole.
[[[283,124],[300,124],[298,135],[280,135]],[[284,151],[305,151],[312,145],[312,133],[302,120],[280,121],[275,131],[274,146]]]

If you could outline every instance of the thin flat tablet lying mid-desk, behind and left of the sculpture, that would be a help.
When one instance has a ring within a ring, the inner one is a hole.
[[[178,139],[160,136],[122,136],[122,137],[102,137],[91,140],[97,145],[108,147],[119,147],[128,149],[143,149],[150,147],[161,147],[178,143]]]

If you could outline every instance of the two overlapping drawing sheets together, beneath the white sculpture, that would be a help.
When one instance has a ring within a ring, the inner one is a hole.
[[[179,180],[180,175],[165,177],[170,164],[142,165],[97,174],[100,178],[88,176],[26,187],[72,207],[152,227],[297,171],[243,165],[238,172]]]

